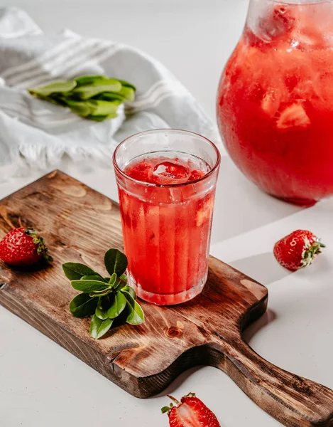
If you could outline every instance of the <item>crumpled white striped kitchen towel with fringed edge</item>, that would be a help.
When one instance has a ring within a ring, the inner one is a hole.
[[[21,9],[6,8],[0,9],[0,55],[0,181],[30,167],[46,169],[64,154],[111,164],[116,144],[148,129],[192,130],[219,141],[216,127],[184,86],[131,46],[72,31],[48,35]],[[136,100],[116,119],[93,122],[27,92],[87,74],[130,81]]]

